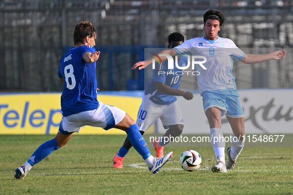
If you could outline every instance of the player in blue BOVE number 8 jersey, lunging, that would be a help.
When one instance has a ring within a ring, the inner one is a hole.
[[[135,121],[125,111],[97,100],[96,30],[90,22],[75,25],[73,34],[75,48],[69,50],[60,60],[59,79],[64,83],[61,95],[62,120],[55,139],[38,147],[31,157],[15,170],[14,177],[23,179],[35,164],[54,150],[64,146],[72,136],[85,125],[121,129],[126,132],[132,146],[141,154],[149,170],[157,173],[170,159],[173,152],[157,159],[153,157],[142,138]]]

